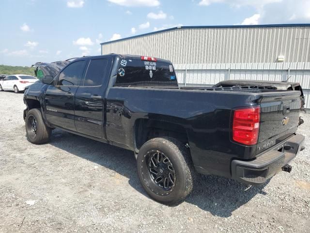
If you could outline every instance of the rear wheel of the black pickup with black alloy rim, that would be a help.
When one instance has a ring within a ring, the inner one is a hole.
[[[192,192],[196,173],[190,152],[175,138],[157,137],[144,143],[137,156],[137,167],[143,188],[160,203],[178,204]]]

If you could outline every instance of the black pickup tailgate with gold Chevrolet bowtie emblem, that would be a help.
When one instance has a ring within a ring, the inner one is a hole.
[[[300,91],[263,93],[260,104],[261,124],[257,154],[296,132],[300,111]]]

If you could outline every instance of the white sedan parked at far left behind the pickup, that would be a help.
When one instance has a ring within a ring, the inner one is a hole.
[[[18,93],[25,90],[26,86],[38,81],[37,78],[26,74],[9,75],[0,81],[0,91],[14,91]]]

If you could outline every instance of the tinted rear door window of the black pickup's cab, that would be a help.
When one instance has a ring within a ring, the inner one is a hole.
[[[108,66],[108,59],[91,60],[86,72],[84,86],[101,85],[107,66]]]

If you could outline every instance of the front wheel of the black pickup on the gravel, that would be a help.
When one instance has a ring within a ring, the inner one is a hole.
[[[26,116],[26,133],[33,144],[47,143],[50,140],[51,128],[44,123],[39,109],[29,110]]]

